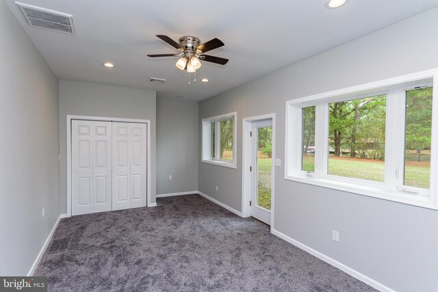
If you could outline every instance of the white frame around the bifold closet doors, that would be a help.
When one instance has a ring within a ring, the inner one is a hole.
[[[130,122],[146,124],[146,207],[154,207],[151,203],[151,120],[140,120],[133,118],[108,118],[99,116],[75,116],[67,115],[67,217],[71,217],[71,121],[92,120],[100,122]]]

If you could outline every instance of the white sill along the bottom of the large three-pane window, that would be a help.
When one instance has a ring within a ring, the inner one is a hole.
[[[386,189],[384,186],[372,183],[351,183],[346,181],[336,181],[329,178],[315,178],[307,175],[285,175],[285,179],[296,181],[298,183],[306,183],[308,185],[316,185],[318,187],[326,187],[328,189],[336,189],[339,191],[347,191],[352,194],[359,194],[403,204],[411,204],[417,207],[438,210],[437,205],[433,202],[432,196],[421,196],[418,194],[407,194],[404,191],[394,189]]]

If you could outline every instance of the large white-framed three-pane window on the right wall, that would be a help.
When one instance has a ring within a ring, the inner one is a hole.
[[[438,209],[437,77],[431,70],[287,101],[285,178]]]

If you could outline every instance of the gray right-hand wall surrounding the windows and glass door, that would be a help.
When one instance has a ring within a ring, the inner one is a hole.
[[[242,118],[274,112],[274,229],[397,291],[438,291],[438,211],[286,181],[283,167],[285,101],[438,68],[437,19],[430,10],[201,102],[200,124],[237,111],[237,170],[199,156],[199,191],[241,210]]]

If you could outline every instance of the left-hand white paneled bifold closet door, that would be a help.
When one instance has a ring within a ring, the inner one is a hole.
[[[112,209],[112,123],[72,120],[72,213]]]

